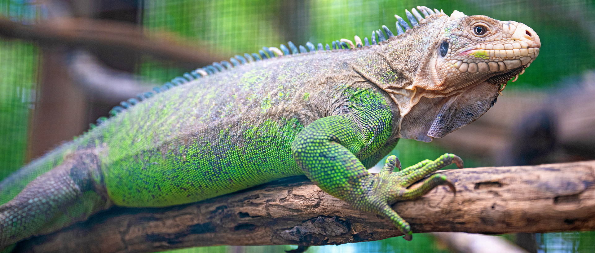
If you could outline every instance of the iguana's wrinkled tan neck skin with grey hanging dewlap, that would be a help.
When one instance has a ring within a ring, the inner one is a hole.
[[[424,67],[438,57],[440,32],[448,18],[444,14],[428,17],[405,35],[371,46],[369,54],[353,64],[359,74],[389,93],[399,108],[398,138],[423,142],[441,138],[486,113],[498,96],[497,82],[486,80],[459,84],[456,90],[416,85],[415,80],[431,75]]]

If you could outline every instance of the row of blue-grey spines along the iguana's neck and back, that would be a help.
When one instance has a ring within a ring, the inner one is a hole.
[[[431,10],[430,8],[425,6],[418,6],[417,9],[421,11],[422,14],[424,14],[424,17],[428,17],[429,15],[435,13],[444,13],[443,11],[438,11],[437,9]],[[419,14],[419,12],[415,10],[415,8],[412,8],[411,12],[405,10],[405,15],[409,20],[409,23],[411,23],[411,26],[409,26],[409,24],[405,20],[403,20],[403,18],[399,17],[399,15],[394,15],[394,17],[397,18],[397,36],[405,33],[406,30],[410,30],[411,27],[419,26],[419,22],[424,20],[424,18],[421,17],[421,14]],[[386,33],[386,36],[384,36],[383,31],[384,33]],[[387,39],[393,38],[394,36],[395,35],[393,34],[393,32],[390,31],[389,27],[382,26],[382,29],[372,31],[372,45],[377,45],[377,42],[386,41]],[[376,39],[377,37],[378,40]],[[355,45],[349,39],[335,40],[331,42],[331,45],[333,50],[350,48],[353,49],[356,47],[361,48],[363,46],[370,45],[368,38],[364,38],[364,43],[362,43],[362,40],[357,35],[354,39]],[[221,72],[223,70],[229,70],[240,64],[251,63],[253,61],[265,60],[268,58],[274,58],[282,55],[331,50],[330,45],[327,44],[323,47],[322,43],[318,43],[317,46],[314,46],[312,42],[306,42],[306,46],[300,45],[299,47],[296,47],[293,44],[293,42],[287,42],[287,45],[289,46],[289,48],[283,44],[281,44],[279,48],[275,48],[274,46],[267,48],[266,46],[264,46],[262,47],[262,49],[258,50],[258,53],[244,54],[243,56],[235,55],[234,57],[230,58],[229,61],[221,61],[220,63],[215,62],[211,65],[206,65],[206,67],[197,68],[196,70],[190,71],[190,73],[184,73],[183,76],[178,76],[172,79],[170,82],[165,83],[161,87],[153,88],[154,92],[140,93],[136,95],[136,98],[130,98],[127,101],[120,102],[120,105],[115,106],[114,108],[112,108],[112,110],[109,111],[109,115],[114,116],[120,113],[121,111],[124,111],[126,108],[138,104],[140,101],[151,98],[155,95],[155,93],[161,93],[165,90],[174,88],[175,86],[183,85],[184,83],[190,82],[192,80],[199,79],[204,76],[209,76],[214,73]],[[97,119],[97,125],[103,123],[107,119],[107,117],[99,117]],[[95,127],[95,125],[91,124],[91,128],[93,127]]]

